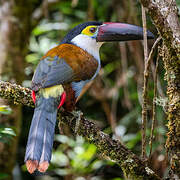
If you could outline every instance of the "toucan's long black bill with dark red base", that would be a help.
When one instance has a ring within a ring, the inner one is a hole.
[[[147,31],[147,38],[154,39],[154,35]],[[142,40],[143,28],[125,23],[103,23],[98,29],[97,42]]]

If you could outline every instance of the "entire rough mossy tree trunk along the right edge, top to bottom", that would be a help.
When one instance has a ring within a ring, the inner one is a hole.
[[[166,70],[168,129],[166,148],[171,179],[180,179],[180,23],[175,0],[141,0],[163,39],[161,56]]]

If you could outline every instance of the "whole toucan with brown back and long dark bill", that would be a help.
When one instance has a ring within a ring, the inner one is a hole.
[[[147,31],[147,38],[154,35]],[[40,60],[32,78],[35,110],[26,146],[27,170],[45,172],[53,147],[58,108],[72,111],[86,83],[100,68],[99,49],[109,41],[142,40],[143,28],[125,23],[85,22],[74,27]]]

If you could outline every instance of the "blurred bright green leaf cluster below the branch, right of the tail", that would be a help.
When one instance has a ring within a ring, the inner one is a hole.
[[[94,176],[91,175],[93,171],[97,171],[108,163],[98,160],[95,145],[88,144],[80,136],[73,140],[65,135],[56,135],[55,140],[62,143],[54,151],[52,157],[52,164],[56,167],[54,172],[58,175],[72,175],[74,179],[88,176],[93,179]],[[96,177],[96,179],[99,178]]]

